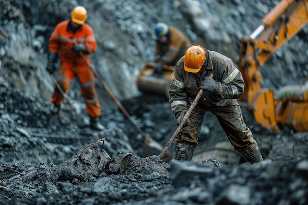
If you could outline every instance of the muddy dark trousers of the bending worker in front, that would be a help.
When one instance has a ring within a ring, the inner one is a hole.
[[[181,158],[181,153],[186,150],[186,154],[182,154],[182,158],[187,159],[187,157],[185,157],[187,153],[193,152],[193,149],[198,145],[202,121],[207,111],[213,113],[217,117],[231,145],[247,162],[253,163],[263,161],[259,147],[250,129],[246,127],[240,105],[236,100],[234,100],[231,105],[225,107],[208,107],[207,110],[197,105],[189,116],[189,126],[182,128],[176,138],[175,155],[177,155],[178,152]],[[175,158],[177,158],[177,156],[175,156]]]

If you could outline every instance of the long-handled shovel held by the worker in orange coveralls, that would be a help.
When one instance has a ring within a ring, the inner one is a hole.
[[[151,146],[152,144],[154,145],[158,145],[158,143],[154,143],[154,140],[150,137],[149,134],[145,134],[140,127],[134,122],[134,120],[130,117],[130,115],[127,113],[127,111],[125,110],[125,108],[123,107],[123,105],[120,103],[120,101],[116,98],[116,96],[112,93],[112,91],[108,88],[108,86],[103,82],[103,80],[100,78],[100,76],[98,75],[98,73],[91,67],[90,63],[87,61],[86,57],[84,56],[84,54],[80,51],[79,55],[81,56],[82,59],[84,59],[84,61],[86,62],[88,68],[92,71],[92,73],[94,74],[94,76],[97,78],[97,80],[99,81],[99,83],[101,84],[101,86],[103,88],[105,88],[105,90],[107,91],[107,93],[110,95],[110,97],[115,101],[115,103],[118,105],[118,107],[121,109],[121,111],[124,113],[124,115],[128,118],[128,120],[132,123],[132,125],[136,128],[136,130],[145,137],[145,155],[153,155],[151,153],[154,152],[154,154],[157,154],[157,152],[159,153],[162,150],[162,147],[160,148],[159,146]],[[151,143],[149,143],[151,142]],[[147,147],[150,146],[150,147]],[[155,151],[154,151],[155,150]],[[151,152],[151,153],[149,153]],[[167,156],[164,158],[164,160],[169,161],[172,158],[170,153],[167,153]],[[166,162],[165,161],[165,162]]]

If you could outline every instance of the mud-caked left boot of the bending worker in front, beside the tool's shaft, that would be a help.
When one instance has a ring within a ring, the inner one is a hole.
[[[195,147],[186,143],[176,142],[174,146],[174,159],[178,161],[191,161]]]

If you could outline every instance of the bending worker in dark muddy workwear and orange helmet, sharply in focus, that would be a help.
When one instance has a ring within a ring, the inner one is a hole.
[[[241,72],[231,59],[192,45],[176,64],[169,89],[171,110],[178,125],[200,89],[204,89],[203,95],[175,140],[175,159],[191,161],[203,118],[209,111],[217,117],[231,145],[247,162],[263,161],[237,101],[244,92]]]

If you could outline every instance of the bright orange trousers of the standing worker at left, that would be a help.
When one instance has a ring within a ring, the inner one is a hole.
[[[94,75],[92,71],[84,65],[71,65],[70,63],[62,63],[59,68],[57,82],[64,91],[67,92],[70,82],[77,77],[81,93],[85,99],[87,112],[90,117],[98,117],[101,115],[100,105],[95,90]],[[64,99],[61,91],[55,87],[51,96],[51,102],[59,106]]]

